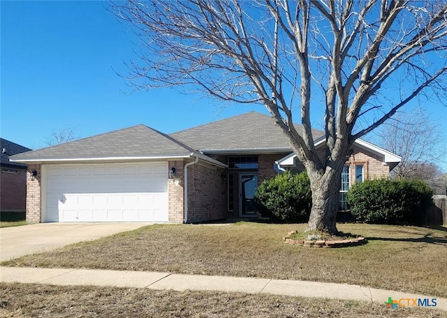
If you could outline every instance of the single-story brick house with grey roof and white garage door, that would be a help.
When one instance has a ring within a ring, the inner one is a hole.
[[[322,134],[314,131],[315,138]],[[13,161],[28,164],[31,223],[203,222],[256,217],[252,199],[260,182],[276,175],[278,164],[300,170],[291,152],[271,117],[252,112],[170,135],[141,124]],[[355,180],[388,175],[399,161],[358,140],[342,190]]]

